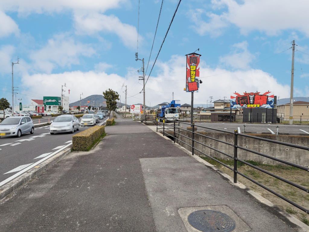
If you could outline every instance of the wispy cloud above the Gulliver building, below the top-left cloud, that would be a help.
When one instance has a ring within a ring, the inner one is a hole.
[[[51,72],[58,66],[70,67],[72,64],[79,64],[80,55],[90,57],[93,54],[95,50],[91,45],[76,42],[73,38],[61,34],[49,39],[40,50],[32,51],[30,58],[40,70]]]

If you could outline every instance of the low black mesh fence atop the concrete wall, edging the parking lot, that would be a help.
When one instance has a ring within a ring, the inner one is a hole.
[[[243,133],[245,133],[245,134],[309,136],[309,126],[244,125],[243,126]]]

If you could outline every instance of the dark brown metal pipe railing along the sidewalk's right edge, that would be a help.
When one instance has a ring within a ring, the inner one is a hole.
[[[304,208],[304,207],[302,207],[302,206],[296,204],[295,202],[291,201],[290,199],[288,199],[288,198],[282,196],[282,195],[279,194],[279,193],[276,193],[275,191],[273,191],[272,189],[268,188],[267,186],[262,185],[261,183],[257,182],[256,180],[253,180],[252,178],[246,176],[245,174],[243,174],[243,173],[241,173],[241,172],[239,172],[239,171],[237,170],[237,161],[239,161],[239,162],[241,162],[241,163],[243,163],[243,164],[245,164],[245,165],[248,165],[248,166],[250,166],[250,167],[252,167],[252,168],[254,168],[254,169],[257,169],[257,170],[259,170],[259,171],[261,171],[261,172],[263,172],[263,173],[266,173],[267,175],[270,175],[270,176],[272,176],[272,177],[274,177],[274,178],[276,178],[276,179],[279,179],[279,180],[281,180],[281,181],[284,181],[285,183],[287,183],[287,184],[289,184],[289,185],[292,185],[292,186],[294,186],[294,187],[296,187],[296,188],[298,188],[298,189],[301,189],[301,190],[303,190],[303,191],[309,193],[309,189],[307,189],[307,188],[305,188],[305,187],[303,187],[303,186],[301,186],[301,185],[298,185],[298,184],[296,184],[296,183],[294,183],[294,182],[292,182],[292,181],[289,181],[289,180],[287,180],[287,179],[285,179],[285,178],[279,177],[279,176],[277,176],[276,174],[270,173],[270,172],[268,172],[268,171],[266,171],[266,170],[264,170],[264,169],[261,169],[261,168],[255,166],[255,165],[252,165],[252,164],[250,164],[250,163],[248,163],[248,162],[246,162],[246,161],[243,161],[243,160],[241,160],[241,159],[239,159],[239,158],[237,157],[238,149],[242,149],[242,150],[245,150],[245,151],[247,151],[247,152],[251,152],[251,153],[254,153],[254,154],[259,155],[259,156],[267,157],[267,158],[269,158],[269,159],[272,159],[272,160],[281,162],[281,163],[283,163],[283,164],[290,165],[290,166],[292,166],[292,167],[299,168],[299,169],[302,169],[302,170],[305,170],[305,171],[309,172],[309,168],[308,168],[308,167],[303,167],[303,166],[301,166],[301,165],[297,165],[297,164],[294,164],[294,163],[291,163],[291,162],[288,162],[288,161],[285,161],[285,160],[281,160],[281,159],[276,158],[276,157],[273,157],[273,156],[271,156],[271,155],[267,155],[267,154],[264,154],[264,153],[256,152],[256,151],[254,151],[254,150],[251,150],[251,149],[248,149],[248,148],[244,148],[244,147],[239,146],[239,145],[238,145],[238,136],[248,137],[248,138],[252,138],[252,139],[256,139],[256,140],[260,140],[260,141],[266,141],[266,142],[270,142],[270,143],[274,143],[274,144],[285,145],[285,146],[289,146],[289,147],[294,147],[294,148],[298,148],[298,149],[303,149],[303,150],[306,150],[306,151],[309,151],[309,147],[301,146],[301,145],[296,145],[296,144],[285,143],[285,142],[276,141],[276,140],[270,140],[270,139],[260,138],[260,137],[256,137],[256,136],[252,136],[252,135],[247,135],[247,134],[240,134],[240,133],[238,133],[238,130],[235,130],[234,132],[230,132],[230,131],[225,131],[225,130],[220,130],[220,129],[215,129],[215,128],[210,128],[210,127],[205,127],[205,126],[200,126],[200,125],[199,125],[199,127],[202,127],[202,128],[205,128],[205,129],[210,129],[210,130],[212,130],[212,131],[214,131],[214,132],[224,132],[224,133],[234,134],[234,143],[228,143],[228,142],[226,142],[226,141],[222,141],[222,140],[219,140],[219,139],[215,139],[215,138],[212,138],[212,137],[210,137],[210,136],[205,136],[205,135],[203,135],[203,134],[200,134],[200,133],[195,132],[195,125],[194,125],[194,123],[191,124],[191,123],[181,122],[182,124],[187,124],[189,127],[191,127],[191,128],[192,128],[192,131],[191,131],[191,130],[187,130],[187,129],[184,129],[184,128],[180,128],[180,126],[177,127],[177,126],[176,126],[176,121],[175,121],[175,120],[163,120],[163,121],[162,121],[162,125],[161,125],[161,123],[158,124],[158,119],[156,120],[156,122],[157,122],[157,123],[156,123],[156,125],[157,125],[157,132],[158,132],[158,130],[159,130],[160,132],[163,132],[163,136],[166,136],[166,135],[168,135],[168,136],[173,136],[174,143],[176,142],[176,140],[178,140],[178,141],[180,141],[180,142],[182,142],[182,143],[188,145],[188,146],[191,147],[191,149],[192,149],[192,155],[194,155],[194,151],[198,151],[198,152],[200,152],[201,154],[205,155],[206,157],[209,157],[210,159],[212,159],[212,160],[214,160],[214,161],[220,163],[221,165],[225,166],[226,168],[231,169],[231,170],[234,172],[234,183],[237,183],[237,174],[239,174],[239,175],[241,175],[242,177],[245,177],[246,179],[252,181],[253,183],[255,183],[255,184],[257,184],[257,185],[259,185],[260,187],[266,189],[267,191],[269,191],[269,192],[275,194],[277,197],[280,197],[280,198],[283,199],[284,201],[289,202],[291,205],[293,205],[293,206],[297,207],[298,209],[304,211],[306,214],[309,214],[309,210],[308,210],[308,209],[306,209],[306,208]],[[176,132],[176,128],[178,128],[178,131],[182,130],[182,131],[191,132],[191,133],[192,133],[191,138],[188,137],[188,136],[182,135],[180,132]],[[166,131],[171,132],[171,134],[167,133]],[[178,135],[179,137],[177,138],[176,135]],[[213,147],[211,147],[211,146],[208,146],[207,144],[203,144],[203,143],[201,143],[200,141],[198,141],[198,140],[195,139],[195,135],[203,136],[203,137],[209,138],[209,139],[211,139],[211,140],[216,140],[216,141],[218,141],[218,142],[221,142],[221,143],[224,143],[224,144],[228,144],[228,145],[230,145],[231,147],[234,147],[234,154],[233,154],[233,155],[230,155],[230,154],[227,154],[227,153],[225,153],[225,152],[223,152],[223,151],[220,151],[219,149],[216,149],[216,148],[213,148]],[[191,140],[191,144],[188,144],[188,143],[182,141],[182,140],[180,139],[181,137],[185,137],[185,138]],[[214,150],[214,151],[217,151],[217,152],[219,152],[219,153],[221,153],[221,154],[223,154],[223,155],[225,155],[225,156],[227,156],[227,157],[233,159],[233,160],[234,160],[234,167],[230,167],[230,166],[228,166],[228,165],[226,165],[226,164],[224,164],[224,163],[218,161],[218,160],[215,159],[214,157],[211,157],[210,155],[208,155],[208,154],[204,153],[203,151],[197,149],[197,148],[194,146],[195,143],[201,144],[201,145],[203,145],[203,146],[205,146],[205,147],[207,147],[207,148],[209,148],[209,149],[212,149],[212,150]]]

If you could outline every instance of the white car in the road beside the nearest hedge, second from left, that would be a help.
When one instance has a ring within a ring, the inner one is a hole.
[[[71,132],[73,134],[74,130],[79,131],[79,121],[73,115],[59,115],[49,126],[51,135],[61,132]]]

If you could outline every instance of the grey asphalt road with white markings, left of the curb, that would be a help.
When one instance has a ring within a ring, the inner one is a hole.
[[[104,124],[100,120],[99,124]],[[79,119],[80,121],[80,119]],[[35,122],[34,122],[35,124]],[[80,127],[79,131],[84,131],[89,127]],[[57,133],[51,135],[49,126],[35,128],[34,134],[26,133],[20,138],[5,137],[0,139],[0,186],[6,184],[5,180],[18,171],[26,168],[53,153],[72,141],[71,133]],[[46,155],[47,154],[47,155]]]

